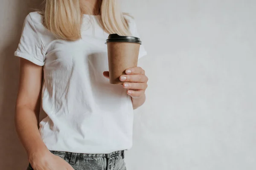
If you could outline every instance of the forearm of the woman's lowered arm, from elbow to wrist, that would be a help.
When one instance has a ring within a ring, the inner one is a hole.
[[[38,130],[38,115],[35,111],[26,106],[16,107],[15,126],[28,157],[39,150],[47,150]]]

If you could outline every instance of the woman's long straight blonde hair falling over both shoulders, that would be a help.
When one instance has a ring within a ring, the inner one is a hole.
[[[129,35],[128,21],[118,1],[99,0],[100,23],[109,34]],[[78,40],[84,11],[86,6],[81,5],[80,0],[46,0],[44,25],[60,39]]]

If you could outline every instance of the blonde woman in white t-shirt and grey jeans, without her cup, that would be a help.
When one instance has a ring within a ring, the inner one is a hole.
[[[26,17],[15,51],[15,123],[28,170],[126,169],[133,109],[145,102],[148,78],[137,67],[120,77],[123,85],[107,79],[108,34],[139,36],[117,1],[46,0],[43,12]],[[47,117],[39,123],[41,103]]]

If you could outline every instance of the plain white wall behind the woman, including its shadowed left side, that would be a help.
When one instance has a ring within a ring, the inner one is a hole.
[[[14,130],[17,48],[40,0],[0,1],[0,169],[27,165]],[[128,170],[256,169],[256,1],[122,0],[148,56]],[[30,10],[31,11],[31,10]]]

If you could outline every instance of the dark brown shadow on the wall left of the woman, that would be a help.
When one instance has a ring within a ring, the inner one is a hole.
[[[14,57],[14,51],[20,40],[23,21],[33,9],[41,8],[42,0],[4,0],[5,10],[1,11],[6,19],[1,37],[7,37],[1,42],[0,48],[0,169],[25,170],[28,164],[26,153],[15,132],[14,114],[19,82],[19,59]],[[10,17],[10,13],[12,14]],[[3,18],[3,17],[2,17]],[[12,21],[8,21],[12,20]],[[7,29],[8,30],[7,30]],[[7,41],[6,41],[7,40]]]

